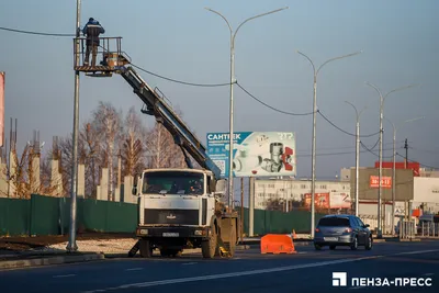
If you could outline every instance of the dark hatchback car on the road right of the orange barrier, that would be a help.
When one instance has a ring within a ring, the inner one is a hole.
[[[314,234],[314,247],[320,250],[324,246],[335,249],[337,246],[349,246],[356,250],[364,246],[367,250],[372,249],[372,233],[369,224],[354,215],[326,215],[318,221]]]

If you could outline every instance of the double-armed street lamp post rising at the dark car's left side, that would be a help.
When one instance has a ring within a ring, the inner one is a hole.
[[[313,67],[314,71],[314,101],[313,101],[313,148],[312,148],[312,184],[311,184],[311,237],[314,238],[314,226],[315,226],[315,207],[314,207],[314,199],[315,199],[315,148],[316,148],[316,113],[317,113],[317,75],[320,71],[320,69],[328,63],[338,60],[341,58],[350,57],[357,54],[360,54],[361,52],[356,52],[352,54],[339,56],[331,58],[318,67],[318,69],[315,69],[314,63],[311,60],[308,56],[305,54],[301,53],[297,50],[297,53],[302,56],[304,56],[309,63],[311,66]]]

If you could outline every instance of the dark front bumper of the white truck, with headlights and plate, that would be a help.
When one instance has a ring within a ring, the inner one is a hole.
[[[155,227],[138,226],[136,236],[139,238],[199,238],[207,239],[211,227]]]

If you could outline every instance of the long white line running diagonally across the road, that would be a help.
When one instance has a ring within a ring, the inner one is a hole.
[[[410,251],[409,253],[416,255],[416,253],[427,253],[427,252],[431,252],[431,251],[439,251],[439,249]],[[221,274],[207,274],[207,275],[200,275],[200,277],[168,279],[168,280],[160,280],[160,281],[148,281],[148,282],[132,283],[132,284],[125,284],[125,285],[101,289],[101,290],[83,291],[82,293],[97,293],[97,292],[106,292],[106,291],[117,291],[117,290],[123,290],[123,289],[138,289],[138,288],[146,288],[146,286],[169,285],[169,284],[189,283],[189,282],[196,282],[196,281],[206,281],[206,280],[216,280],[216,279],[227,279],[227,278],[236,278],[236,277],[245,277],[245,275],[254,275],[254,274],[272,273],[272,272],[283,272],[283,271],[292,271],[292,270],[300,270],[300,269],[307,269],[307,268],[325,267],[325,266],[331,266],[331,264],[338,264],[338,263],[354,262],[354,261],[361,261],[361,260],[379,259],[379,258],[398,256],[402,253],[406,255],[406,252],[399,252],[399,253],[386,255],[386,256],[383,255],[383,256],[362,257],[362,258],[356,258],[356,259],[320,261],[320,262],[295,264],[295,266],[288,266],[288,267],[278,267],[278,268],[271,268],[271,269],[230,272],[230,273],[221,273]]]

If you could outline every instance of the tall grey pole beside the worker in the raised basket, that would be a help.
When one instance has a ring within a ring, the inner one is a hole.
[[[75,56],[76,66],[79,66],[79,33],[81,21],[81,0],[76,1],[76,37],[75,41],[76,52]],[[70,193],[70,227],[69,227],[69,241],[66,247],[67,251],[78,250],[76,245],[76,200],[78,188],[78,132],[79,132],[79,71],[75,71],[75,102],[74,102],[74,135],[72,135],[72,167],[71,167],[71,193]]]

